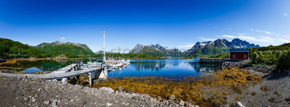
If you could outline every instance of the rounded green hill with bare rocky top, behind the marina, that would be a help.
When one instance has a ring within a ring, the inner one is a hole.
[[[88,46],[79,43],[63,43],[55,41],[52,43],[41,43],[34,47],[44,52],[63,52],[74,55],[95,55],[95,53]]]

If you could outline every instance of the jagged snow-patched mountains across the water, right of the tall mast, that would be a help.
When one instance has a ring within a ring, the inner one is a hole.
[[[226,39],[217,39],[215,41],[197,42],[195,45],[185,52],[179,49],[168,49],[157,45],[144,46],[137,44],[130,53],[143,53],[147,55],[171,56],[171,57],[184,57],[184,56],[199,56],[199,55],[216,55],[229,53],[230,48],[250,48],[260,47],[259,45],[250,44],[247,41],[238,38],[233,39],[231,42]]]

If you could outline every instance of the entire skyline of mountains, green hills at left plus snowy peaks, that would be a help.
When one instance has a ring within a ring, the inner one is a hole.
[[[12,41],[10,39],[0,38],[2,44],[0,48],[3,53],[7,54],[29,54],[29,56],[43,55],[46,52],[60,52],[74,55],[95,55],[103,54],[103,51],[93,52],[87,45],[71,42],[55,41],[52,43],[41,43],[37,46],[30,46],[28,44],[22,44],[20,42]],[[185,56],[204,56],[204,55],[216,55],[229,53],[230,48],[250,48],[260,47],[253,43],[240,40],[238,38],[233,39],[231,42],[226,39],[217,39],[215,41],[197,42],[195,45],[181,52],[179,49],[168,49],[167,47],[156,45],[144,46],[137,44],[129,53],[142,53],[146,55],[154,56],[171,56],[171,57],[185,57]],[[59,54],[60,54],[59,53]],[[106,51],[105,53],[114,53]]]

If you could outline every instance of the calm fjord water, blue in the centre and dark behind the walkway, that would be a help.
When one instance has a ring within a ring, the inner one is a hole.
[[[102,62],[102,59],[91,59],[92,61]],[[82,60],[84,63],[89,59]],[[42,68],[43,71],[48,68],[61,65],[70,61],[64,60],[37,60],[37,61],[19,61],[13,64],[2,64],[2,67],[12,68]],[[218,70],[218,65],[198,64],[196,59],[131,59],[131,63],[126,67],[108,72],[108,77],[124,76],[162,76],[162,77],[186,77],[197,75],[202,71]],[[55,68],[56,69],[56,68]],[[35,69],[34,69],[35,70]]]

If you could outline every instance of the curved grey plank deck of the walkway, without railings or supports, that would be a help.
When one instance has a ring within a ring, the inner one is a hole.
[[[66,77],[73,77],[81,74],[86,74],[88,72],[93,72],[102,69],[101,67],[89,68],[84,70],[77,70],[71,72],[63,72],[63,73],[49,73],[49,74],[11,74],[0,72],[0,75],[6,77],[20,77],[20,78],[35,78],[35,79],[62,79]]]

